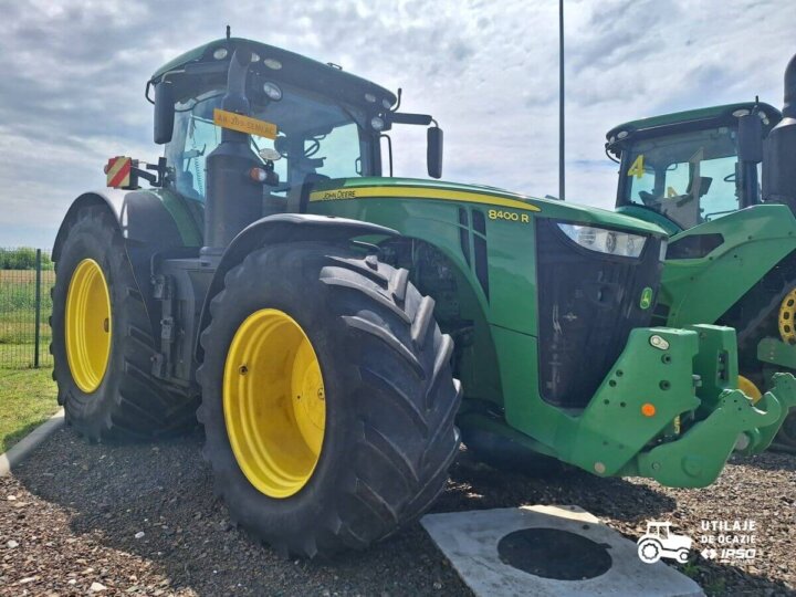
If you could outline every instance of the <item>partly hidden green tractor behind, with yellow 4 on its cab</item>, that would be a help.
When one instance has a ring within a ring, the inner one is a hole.
[[[731,104],[626,123],[607,138],[617,211],[670,234],[653,323],[734,327],[741,387],[761,396],[776,371],[796,370],[796,56],[782,113]],[[775,446],[796,450],[796,416]]]

